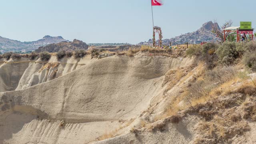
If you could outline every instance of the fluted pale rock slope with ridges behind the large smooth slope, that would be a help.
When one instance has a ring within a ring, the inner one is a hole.
[[[53,80],[88,64],[90,61],[90,56],[78,59],[75,59],[73,56],[71,58],[64,57],[61,60],[57,60],[56,56],[52,56],[47,62],[43,62],[39,58],[36,62],[31,62],[26,68],[18,82],[16,90],[22,90],[42,82]]]

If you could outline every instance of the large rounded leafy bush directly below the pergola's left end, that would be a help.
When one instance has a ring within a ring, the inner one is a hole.
[[[239,57],[239,53],[236,51],[236,42],[224,42],[222,46],[219,46],[216,54],[220,63],[231,65]]]

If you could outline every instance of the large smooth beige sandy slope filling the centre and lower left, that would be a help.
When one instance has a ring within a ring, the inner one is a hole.
[[[189,58],[112,56],[24,90],[0,93],[0,144],[84,144],[136,118]],[[61,122],[61,121],[64,122]]]

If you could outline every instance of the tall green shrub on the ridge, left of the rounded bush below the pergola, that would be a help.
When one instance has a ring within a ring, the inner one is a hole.
[[[212,69],[217,65],[218,56],[215,53],[218,49],[218,44],[216,43],[206,43],[202,45],[202,56],[201,60],[204,60],[206,68]]]

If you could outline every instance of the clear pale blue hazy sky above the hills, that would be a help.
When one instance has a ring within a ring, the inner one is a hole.
[[[217,20],[252,21],[256,0],[162,0],[154,23],[165,38],[192,32]],[[241,4],[244,2],[245,4]],[[2,0],[0,36],[34,41],[45,35],[86,43],[136,44],[152,38],[151,0]]]

